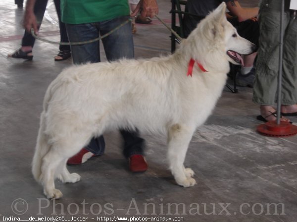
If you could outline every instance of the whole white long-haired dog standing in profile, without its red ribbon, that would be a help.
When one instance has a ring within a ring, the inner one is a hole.
[[[227,50],[248,54],[253,44],[237,35],[222,3],[200,22],[180,48],[167,57],[73,66],[51,82],[44,99],[33,158],[34,178],[48,198],[59,198],[54,179],[80,180],[66,161],[94,136],[119,128],[168,136],[170,170],[178,185],[193,186],[194,172],[184,159],[196,128],[213,110],[225,85]],[[190,59],[198,60],[193,77]]]

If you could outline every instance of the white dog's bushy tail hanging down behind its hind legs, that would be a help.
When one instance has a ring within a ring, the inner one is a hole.
[[[42,167],[43,157],[48,153],[50,148],[50,145],[46,138],[47,135],[45,134],[45,128],[46,128],[45,113],[43,111],[40,118],[40,128],[38,132],[35,153],[32,161],[32,174],[34,176],[34,179],[37,182],[40,182],[40,179],[41,179],[41,174],[42,174],[41,167]]]

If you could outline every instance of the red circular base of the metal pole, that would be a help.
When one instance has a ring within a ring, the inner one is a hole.
[[[286,121],[281,121],[280,124],[276,121],[268,121],[259,125],[257,131],[268,137],[291,137],[297,134],[297,126]]]

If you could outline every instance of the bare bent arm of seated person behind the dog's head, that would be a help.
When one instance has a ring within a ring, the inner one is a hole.
[[[228,1],[227,8],[232,15],[238,17],[239,22],[243,22],[252,17],[256,17],[259,13],[258,7],[243,8],[237,0]]]

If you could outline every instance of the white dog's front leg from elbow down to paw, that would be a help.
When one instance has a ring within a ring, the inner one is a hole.
[[[196,184],[194,171],[184,167],[184,161],[194,129],[175,124],[168,131],[168,160],[171,173],[178,185],[189,187]]]

